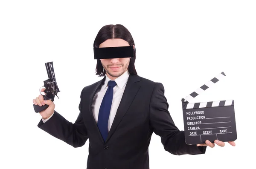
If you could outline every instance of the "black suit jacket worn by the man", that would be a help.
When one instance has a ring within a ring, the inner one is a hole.
[[[84,87],[75,123],[56,111],[46,123],[38,123],[40,129],[73,147],[81,147],[89,139],[87,169],[149,169],[148,146],[153,132],[173,155],[205,153],[206,147],[185,143],[184,132],[177,129],[169,114],[163,84],[138,75],[129,76],[104,142],[91,108],[93,97],[104,82],[105,77]]]

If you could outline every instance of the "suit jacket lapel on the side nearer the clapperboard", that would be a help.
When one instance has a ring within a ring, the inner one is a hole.
[[[138,75],[129,75],[127,84],[125,86],[125,91],[122,95],[121,102],[116,111],[116,116],[114,117],[106,142],[109,140],[111,135],[113,135],[113,132],[116,130],[116,127],[122,120],[122,117],[127,112],[132,101],[134,100],[134,97],[136,96],[138,90],[140,89],[140,83],[136,83],[137,81],[140,81],[140,77]]]

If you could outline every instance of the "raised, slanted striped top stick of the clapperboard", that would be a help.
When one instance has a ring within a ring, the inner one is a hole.
[[[207,83],[205,83],[203,86],[201,86],[200,88],[198,88],[195,92],[192,92],[190,95],[188,95],[187,97],[184,98],[185,102],[189,102],[191,101],[193,98],[195,98],[196,96],[198,96],[199,94],[201,94],[202,92],[204,92],[206,89],[208,89],[209,87],[211,87],[213,84],[217,83],[219,80],[221,80],[223,77],[225,77],[226,74],[224,74],[224,72],[221,72],[220,74],[218,74],[216,77],[212,78],[211,80],[209,80]]]

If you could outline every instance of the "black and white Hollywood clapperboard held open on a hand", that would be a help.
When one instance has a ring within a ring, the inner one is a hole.
[[[189,145],[211,141],[234,141],[236,135],[236,120],[234,100],[189,103],[193,98],[217,83],[226,75],[221,72],[203,86],[181,99],[185,140]]]

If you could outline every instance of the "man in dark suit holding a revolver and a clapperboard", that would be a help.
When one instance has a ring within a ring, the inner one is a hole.
[[[103,26],[93,46],[135,49],[130,32],[122,25]],[[81,91],[75,123],[56,112],[51,100],[36,97],[35,105],[49,105],[40,112],[38,127],[73,147],[83,146],[89,139],[87,169],[149,169],[148,146],[153,132],[174,155],[204,154],[206,146],[214,147],[215,143],[224,146],[218,140],[187,145],[184,132],[177,129],[168,112],[162,83],[138,76],[135,59],[136,53],[134,57],[97,60],[96,74],[104,78]]]

